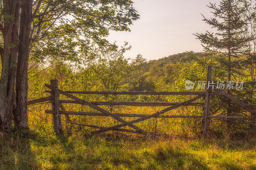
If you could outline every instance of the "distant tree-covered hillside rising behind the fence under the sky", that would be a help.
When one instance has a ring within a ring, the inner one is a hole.
[[[196,60],[195,60],[196,58]],[[162,81],[167,86],[177,80],[180,74],[180,69],[185,63],[195,63],[197,60],[209,61],[211,55],[206,52],[183,52],[178,54],[169,55],[157,60],[147,61],[142,55],[137,55],[132,63],[135,64],[136,80],[133,82],[132,89],[134,91],[157,91],[156,84]],[[185,90],[185,88],[183,89]]]

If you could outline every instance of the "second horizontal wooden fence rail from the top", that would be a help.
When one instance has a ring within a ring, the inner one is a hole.
[[[52,101],[53,102],[53,101]],[[89,101],[94,105],[124,105],[124,106],[173,106],[179,104],[180,102],[112,102],[112,101]],[[76,100],[59,100],[59,103],[74,103],[74,104],[83,104],[82,102]],[[204,103],[189,103],[185,106],[203,106]]]

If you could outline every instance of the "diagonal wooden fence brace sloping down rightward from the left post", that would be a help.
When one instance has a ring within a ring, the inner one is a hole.
[[[45,86],[46,86],[47,88],[51,89],[51,90],[54,89],[51,85],[45,84]],[[109,115],[109,116],[113,117],[114,119],[118,120],[119,122],[122,122],[122,123],[124,123],[125,125],[128,125],[128,126],[130,126],[131,128],[133,128],[133,129],[135,129],[135,130],[138,130],[140,133],[147,133],[145,130],[140,129],[139,127],[137,127],[137,126],[135,126],[135,125],[133,125],[133,124],[131,124],[131,123],[129,123],[129,122],[126,122],[124,119],[122,119],[122,118],[120,118],[120,117],[114,115],[113,113],[110,113],[110,112],[108,112],[107,110],[104,110],[104,109],[102,109],[102,108],[100,108],[100,107],[98,107],[98,106],[96,106],[96,105],[93,105],[92,103],[90,103],[90,102],[88,102],[88,101],[84,101],[84,100],[82,100],[82,99],[80,99],[80,98],[78,98],[78,97],[76,97],[76,96],[74,96],[74,95],[72,95],[72,94],[69,94],[69,93],[67,93],[67,92],[65,92],[65,91],[62,91],[62,90],[60,90],[60,89],[59,89],[58,91],[60,92],[60,94],[63,94],[63,95],[65,95],[65,96],[67,96],[67,97],[69,97],[69,98],[71,98],[71,99],[76,100],[76,101],[82,102],[84,105],[90,106],[90,107],[92,107],[92,108],[94,108],[94,109],[100,111],[101,113],[105,113],[106,115]]]

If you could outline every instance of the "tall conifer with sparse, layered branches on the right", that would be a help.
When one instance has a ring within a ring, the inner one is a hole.
[[[212,55],[222,69],[228,71],[226,75],[228,81],[234,79],[236,70],[242,67],[239,57],[248,53],[246,46],[253,39],[251,36],[243,36],[246,31],[243,28],[249,19],[244,18],[243,14],[250,4],[245,4],[244,8],[239,8],[238,5],[237,0],[223,0],[219,6],[210,3],[207,6],[212,10],[214,17],[207,19],[202,15],[203,21],[212,26],[216,33],[206,31],[205,34],[194,34],[202,42],[204,51]],[[228,100],[227,115],[230,114],[231,102]]]

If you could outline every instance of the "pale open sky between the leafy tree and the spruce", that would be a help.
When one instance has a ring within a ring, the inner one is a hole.
[[[131,32],[111,31],[107,39],[132,46],[125,53],[126,58],[143,55],[154,60],[185,51],[200,52],[201,42],[193,33],[205,33],[211,27],[202,21],[213,17],[206,5],[219,4],[219,0],[134,0],[134,8],[140,19],[130,26]]]

